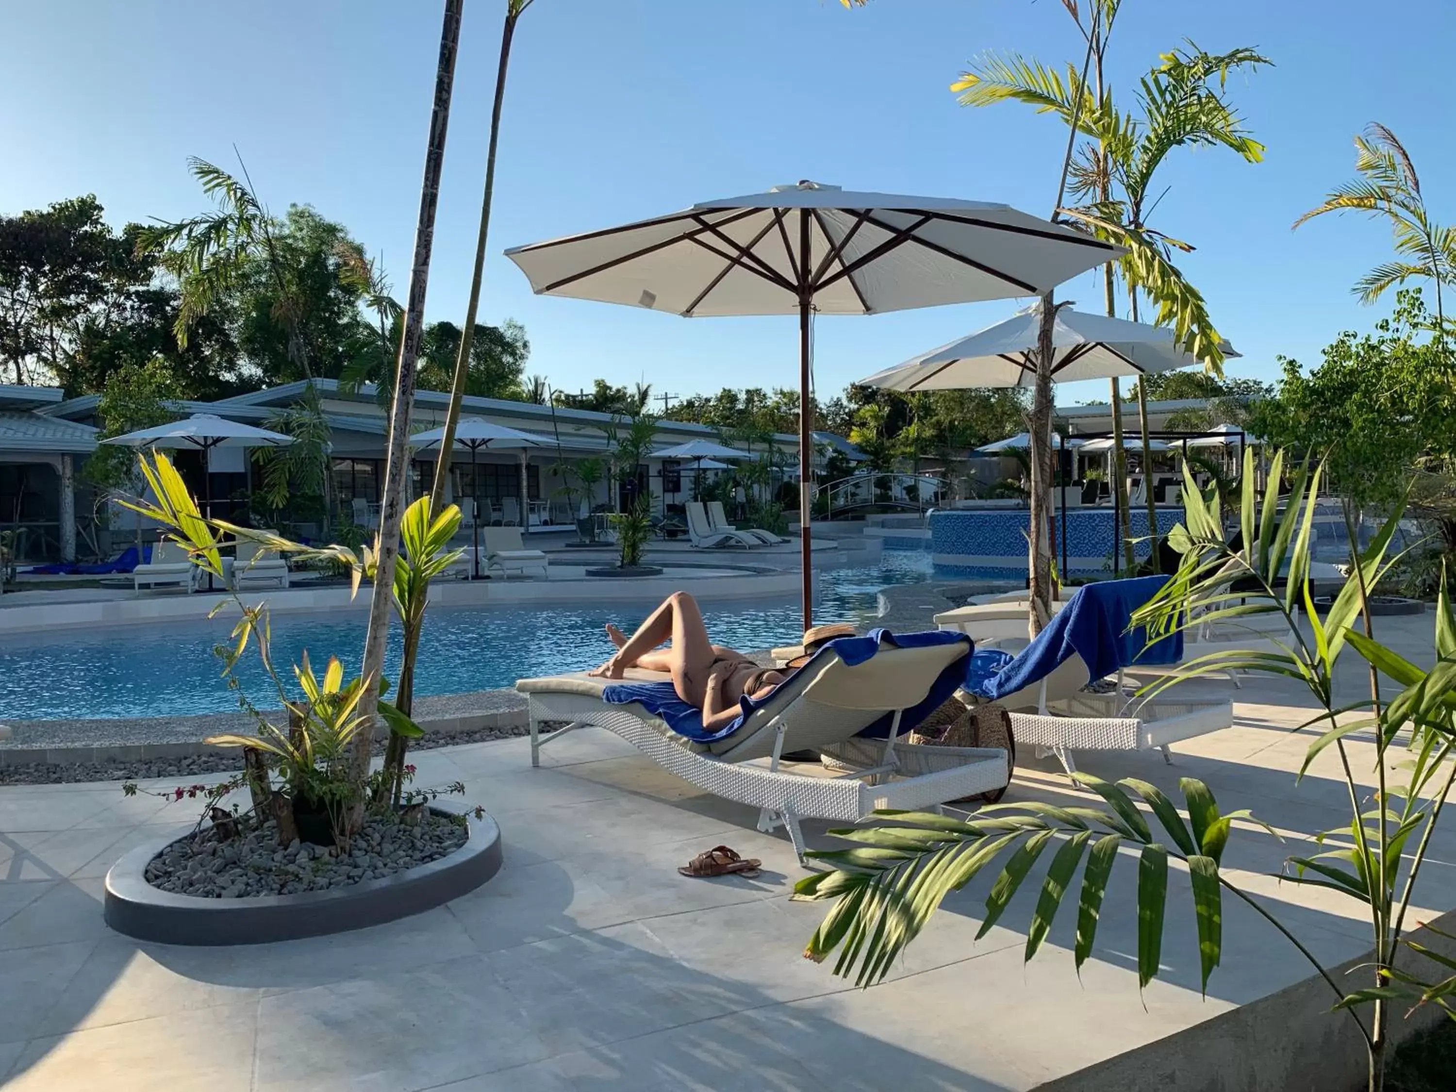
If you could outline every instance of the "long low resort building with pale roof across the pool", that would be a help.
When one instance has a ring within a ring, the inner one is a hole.
[[[338,517],[368,527],[377,518],[377,505],[384,476],[384,446],[389,418],[384,402],[371,384],[347,389],[338,380],[310,380],[319,395],[323,418],[329,427],[328,504]],[[297,405],[307,393],[309,381],[220,399],[217,402],[179,400],[172,409],[178,416],[214,414],[232,421],[268,428],[269,421]],[[64,400],[54,387],[0,386],[0,530],[19,529],[17,558],[28,562],[74,561],[77,534],[82,536],[83,556],[103,556],[111,546],[111,533],[122,533],[130,540],[135,530],[131,513],[118,505],[100,504],[98,513],[93,491],[79,478],[84,457],[96,448],[99,395]],[[450,396],[438,390],[415,393],[412,431],[422,432],[444,424]],[[511,502],[521,513],[530,531],[566,530],[574,526],[572,508],[585,501],[587,508],[613,507],[607,495],[606,475],[584,489],[575,469],[584,462],[607,460],[614,448],[613,435],[625,430],[620,415],[584,409],[565,409],[531,402],[466,396],[462,416],[478,416],[492,424],[527,432],[539,440],[537,447],[480,448],[475,457],[456,450],[450,494],[476,496],[486,520],[485,505],[496,508]],[[824,434],[826,437],[828,434]],[[820,434],[815,434],[817,440]],[[721,440],[718,430],[681,421],[660,421],[654,438],[655,450],[665,450],[690,440]],[[837,444],[839,437],[817,443],[821,453]],[[734,444],[745,457],[766,453],[761,441]],[[776,434],[767,450],[775,453],[776,480],[796,476],[798,437]],[[823,454],[821,454],[823,457]],[[204,480],[199,451],[173,453],[183,479],[198,495],[213,498],[213,514],[237,520],[249,507],[249,498],[259,485],[259,470],[243,448],[220,447],[208,453]],[[428,489],[434,476],[434,450],[418,450],[411,462],[411,495]],[[692,495],[692,478],[697,472],[692,460],[648,457],[635,482],[619,480],[623,496],[648,492],[655,510],[664,501],[678,504]],[[712,470],[705,470],[712,473]],[[619,476],[620,478],[620,476]],[[571,485],[572,494],[563,489]],[[590,492],[590,496],[582,494]],[[616,498],[617,502],[623,499]]]

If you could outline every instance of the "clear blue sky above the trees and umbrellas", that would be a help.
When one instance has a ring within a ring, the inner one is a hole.
[[[460,322],[475,246],[504,0],[466,0],[430,317]],[[1456,217],[1447,0],[1125,0],[1114,87],[1160,51],[1255,45],[1277,67],[1232,86],[1268,159],[1181,151],[1158,223],[1198,246],[1184,262],[1245,354],[1318,360],[1341,329],[1388,309],[1350,285],[1386,256],[1363,221],[1290,223],[1351,175],[1366,122],[1406,143],[1437,213]],[[275,211],[307,202],[383,253],[405,293],[441,4],[431,0],[0,0],[0,210],[95,192],[121,224],[201,211],[189,154],[243,153]],[[987,50],[1080,58],[1059,0],[536,0],[507,92],[482,316],[526,325],[530,371],[689,393],[788,386],[792,319],[699,319],[533,297],[507,246],[812,178],[1005,201],[1047,215],[1064,130],[1028,109],[964,109],[948,84]],[[1096,306],[1089,278],[1066,294]],[[1015,301],[818,325],[821,392],[968,333]],[[1070,403],[1105,384],[1059,392]]]

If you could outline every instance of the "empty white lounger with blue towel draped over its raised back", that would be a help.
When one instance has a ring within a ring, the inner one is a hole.
[[[1144,632],[1128,632],[1131,607],[1125,604],[1146,601],[1162,579],[1143,577],[1082,588],[1026,648],[999,670],[968,678],[967,689],[1005,705],[1016,743],[1034,745],[1038,754],[1054,754],[1073,778],[1075,750],[1158,748],[1171,763],[1169,744],[1229,728],[1233,705],[1159,700],[1134,709],[1124,697],[1124,671],[1168,670],[1201,654],[1201,646],[1182,646],[1176,638],[1147,648]],[[1109,676],[1117,678],[1112,693],[1083,690]]]

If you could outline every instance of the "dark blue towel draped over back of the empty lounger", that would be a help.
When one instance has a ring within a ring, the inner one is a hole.
[[[1051,617],[1035,641],[999,670],[990,660],[977,665],[973,658],[970,670],[976,673],[980,667],[980,673],[974,678],[967,674],[965,689],[994,702],[1040,683],[1073,652],[1086,661],[1088,681],[1137,664],[1176,664],[1182,660],[1181,632],[1149,645],[1144,626],[1130,628],[1133,612],[1156,596],[1168,579],[1136,577],[1088,584]]]

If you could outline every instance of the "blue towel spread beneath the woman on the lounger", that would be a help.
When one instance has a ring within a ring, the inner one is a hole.
[[[820,657],[839,654],[850,667],[858,667],[869,660],[881,648],[925,648],[929,645],[952,645],[964,641],[970,644],[970,638],[964,633],[955,633],[948,630],[929,630],[925,633],[891,633],[888,629],[872,629],[865,636],[858,638],[837,638],[830,641],[821,649],[814,654],[810,660],[812,664]],[[804,665],[807,668],[808,664]],[[801,671],[804,668],[799,668]],[[900,731],[907,732],[914,728],[920,721],[923,721],[930,712],[938,709],[951,695],[954,695],[961,683],[965,680],[965,670],[961,662],[957,661],[951,664],[941,677],[935,680],[935,686],[930,687],[930,693],[923,702],[920,702],[913,709],[906,709],[904,715],[900,718]],[[740,713],[724,728],[716,731],[708,731],[703,728],[703,712],[702,709],[689,705],[681,697],[677,696],[677,690],[671,683],[613,683],[601,692],[604,702],[612,705],[629,705],[632,702],[641,705],[654,716],[661,718],[667,722],[678,735],[686,735],[689,740],[696,743],[715,743],[718,740],[725,740],[743,727],[747,716],[764,705],[773,700],[770,693],[760,702],[754,702],[751,697],[744,696],[738,699]],[[894,722],[894,713],[885,713],[872,725],[865,728],[860,735],[868,735],[874,738],[884,738],[890,734],[890,725]]]

